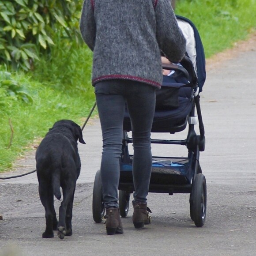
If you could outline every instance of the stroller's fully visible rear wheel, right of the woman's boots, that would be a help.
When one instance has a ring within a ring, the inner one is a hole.
[[[206,180],[202,173],[196,175],[190,195],[190,217],[197,227],[203,226],[206,218]]]

